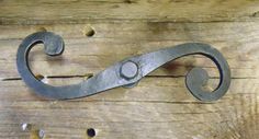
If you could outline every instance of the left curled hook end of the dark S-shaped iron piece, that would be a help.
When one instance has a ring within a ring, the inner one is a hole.
[[[58,56],[64,51],[63,38],[50,32],[37,32],[29,35],[19,46],[16,54],[16,66],[23,81],[38,95],[50,99],[70,99],[78,96],[81,84],[71,84],[64,86],[53,86],[37,80],[29,67],[29,53],[36,44],[44,44],[44,51],[49,56]]]

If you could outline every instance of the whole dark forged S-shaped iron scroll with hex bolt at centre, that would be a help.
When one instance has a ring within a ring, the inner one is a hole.
[[[219,83],[213,92],[202,89],[209,79],[205,70],[193,68],[187,74],[187,88],[196,99],[201,101],[218,100],[227,92],[230,84],[230,71],[222,54],[210,45],[189,43],[126,58],[79,84],[53,86],[37,80],[29,67],[29,53],[38,43],[44,44],[45,53],[49,56],[61,55],[65,48],[63,38],[54,33],[38,32],[29,35],[18,49],[18,70],[23,81],[38,95],[50,99],[77,99],[117,86],[131,86],[160,66],[188,55],[203,55],[209,57],[215,62],[219,71]]]

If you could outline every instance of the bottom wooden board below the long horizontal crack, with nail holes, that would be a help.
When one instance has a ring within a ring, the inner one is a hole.
[[[234,80],[228,94],[215,103],[195,102],[185,93],[183,83],[176,81],[151,78],[134,89],[115,89],[72,101],[40,100],[23,82],[4,82],[9,86],[4,85],[0,94],[0,118],[4,119],[0,120],[0,137],[29,137],[29,132],[21,131],[20,123],[33,124],[32,130],[44,129],[47,138],[82,138],[90,127],[98,131],[94,138],[100,139],[258,137],[258,85],[254,93],[234,93],[237,82],[258,81]],[[16,97],[7,97],[7,93]]]

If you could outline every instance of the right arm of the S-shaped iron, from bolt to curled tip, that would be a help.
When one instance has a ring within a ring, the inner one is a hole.
[[[189,91],[200,101],[215,101],[222,97],[230,85],[230,70],[223,55],[215,48],[202,43],[187,43],[176,47],[160,49],[142,56],[142,62],[145,67],[142,69],[146,76],[160,66],[189,55],[203,55],[210,58],[216,65],[219,72],[219,83],[212,91],[203,90],[207,83],[207,72],[202,68],[193,68],[185,78],[185,84]]]

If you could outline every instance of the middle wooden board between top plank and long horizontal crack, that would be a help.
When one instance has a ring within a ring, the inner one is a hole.
[[[259,70],[257,70],[259,25],[257,22],[156,23],[154,27],[149,26],[149,23],[142,22],[105,22],[92,24],[97,32],[92,37],[83,36],[85,26],[86,24],[0,26],[2,31],[0,34],[0,50],[2,51],[0,66],[3,67],[0,78],[19,77],[15,68],[15,53],[21,38],[42,27],[60,34],[66,43],[63,57],[54,59],[46,57],[42,53],[43,47],[35,48],[31,53],[33,71],[44,76],[97,73],[123,58],[187,42],[207,43],[222,51],[232,67],[233,78],[259,76]],[[158,31],[151,33],[150,28]],[[11,32],[13,30],[18,33]],[[72,37],[68,38],[69,36]],[[38,66],[40,62],[41,66]],[[211,77],[217,76],[215,66],[202,57],[181,58],[158,69],[153,76],[184,76],[193,66],[205,66],[204,68],[210,71]]]

